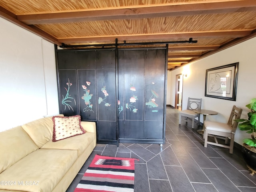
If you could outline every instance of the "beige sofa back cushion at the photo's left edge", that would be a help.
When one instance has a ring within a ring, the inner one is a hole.
[[[21,126],[0,132],[0,173],[37,149]]]

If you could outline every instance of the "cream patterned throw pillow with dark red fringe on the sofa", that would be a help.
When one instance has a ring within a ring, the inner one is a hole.
[[[53,116],[52,121],[54,124],[52,135],[53,142],[85,133],[85,130],[80,124],[80,115],[70,117]]]

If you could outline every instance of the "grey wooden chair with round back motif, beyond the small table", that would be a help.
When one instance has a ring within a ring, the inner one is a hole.
[[[193,110],[201,109],[202,99],[188,98],[188,105],[186,110],[181,110],[179,114],[179,124],[181,124],[182,117],[192,119],[192,129],[194,129],[195,118],[198,117],[198,124],[200,123],[200,114],[195,113]],[[186,122],[187,123],[187,122]]]

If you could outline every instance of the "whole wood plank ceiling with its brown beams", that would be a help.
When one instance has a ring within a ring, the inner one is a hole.
[[[196,40],[168,44],[168,70],[256,36],[256,0],[1,0],[0,17],[58,46]]]

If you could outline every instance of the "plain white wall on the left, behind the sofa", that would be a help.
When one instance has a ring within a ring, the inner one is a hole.
[[[0,18],[0,131],[58,114],[54,45]]]

